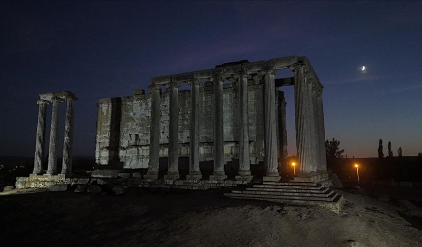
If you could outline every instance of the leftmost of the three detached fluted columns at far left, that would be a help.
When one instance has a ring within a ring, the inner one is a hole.
[[[35,142],[34,174],[40,174],[43,171],[44,143],[46,139],[46,109],[49,101],[40,99],[38,104],[38,124],[37,137]]]

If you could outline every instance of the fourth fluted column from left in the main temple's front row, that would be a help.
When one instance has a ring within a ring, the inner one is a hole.
[[[223,80],[213,77],[214,83],[214,172],[210,180],[224,180]]]

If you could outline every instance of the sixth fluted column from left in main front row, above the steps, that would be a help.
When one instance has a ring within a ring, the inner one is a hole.
[[[265,176],[264,181],[279,181],[277,163],[277,139],[275,120],[275,85],[276,70],[267,69],[264,73],[264,148],[265,148]]]

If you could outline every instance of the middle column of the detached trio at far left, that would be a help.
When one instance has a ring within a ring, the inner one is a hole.
[[[49,166],[47,174],[57,173],[58,106],[62,99],[53,98],[52,123],[50,128]]]

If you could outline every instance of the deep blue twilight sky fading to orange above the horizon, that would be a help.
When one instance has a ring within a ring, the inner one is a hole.
[[[377,156],[380,138],[384,153],[391,141],[395,155],[399,146],[417,155],[421,9],[421,1],[1,1],[0,155],[33,156],[39,93],[77,95],[74,154],[93,156],[98,99],[130,96],[159,75],[289,55],[311,61],[325,87],[326,138],[348,157]],[[283,90],[294,154],[293,89]],[[60,120],[61,143],[64,104]]]

